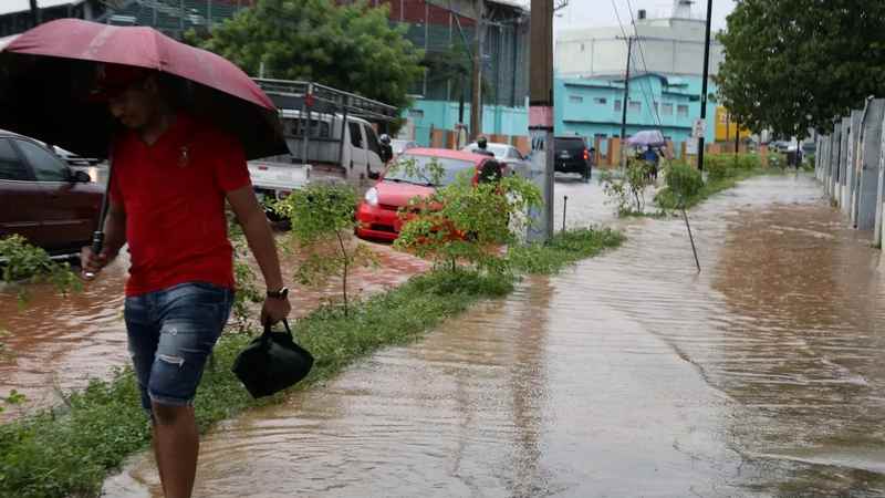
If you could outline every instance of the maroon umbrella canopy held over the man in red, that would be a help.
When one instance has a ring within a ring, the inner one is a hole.
[[[0,128],[106,157],[116,124],[88,98],[97,63],[186,82],[185,108],[239,137],[248,158],[288,153],[273,102],[231,62],[150,28],[79,19],[48,22],[0,44]]]

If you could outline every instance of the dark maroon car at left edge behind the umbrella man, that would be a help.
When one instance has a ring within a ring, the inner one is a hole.
[[[50,255],[76,255],[92,239],[103,195],[40,142],[0,132],[0,238],[18,234]]]

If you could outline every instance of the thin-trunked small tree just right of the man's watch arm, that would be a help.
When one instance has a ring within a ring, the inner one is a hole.
[[[293,191],[275,205],[277,211],[292,222],[292,238],[305,251],[306,259],[295,272],[305,286],[341,277],[344,314],[348,311],[347,280],[354,267],[376,264],[368,246],[351,243],[356,227],[356,193],[346,185],[311,185]]]

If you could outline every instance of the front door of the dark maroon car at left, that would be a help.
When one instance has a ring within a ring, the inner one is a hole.
[[[94,186],[72,181],[72,173],[58,156],[27,139],[13,139],[43,191],[42,229],[49,250],[75,249],[92,238],[101,194]]]

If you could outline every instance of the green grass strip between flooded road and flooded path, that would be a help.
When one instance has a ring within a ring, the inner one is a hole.
[[[518,272],[555,273],[623,240],[623,235],[610,229],[568,231],[548,245],[511,250],[511,267]],[[355,303],[348,317],[340,307],[317,309],[293,328],[316,359],[311,374],[293,390],[327,380],[381,347],[413,341],[479,300],[503,297],[517,278],[434,271]],[[250,339],[226,334],[216,346],[195,403],[201,432],[285,396],[253,401],[230,372]],[[0,497],[97,496],[105,476],[149,442],[150,428],[138,405],[134,376],[129,369],[121,369],[112,380],[93,381],[69,395],[60,407],[0,425]]]

